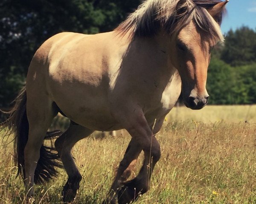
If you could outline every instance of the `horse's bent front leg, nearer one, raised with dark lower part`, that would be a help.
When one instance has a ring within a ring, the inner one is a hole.
[[[131,109],[134,110],[134,108]],[[120,116],[121,118],[122,116]],[[139,175],[133,180],[125,182],[118,192],[118,203],[126,204],[136,201],[140,194],[148,191],[151,174],[155,164],[160,159],[161,152],[160,144],[149,127],[142,109],[136,107],[136,111],[127,114],[126,118],[123,118],[122,125],[140,145],[145,155]]]

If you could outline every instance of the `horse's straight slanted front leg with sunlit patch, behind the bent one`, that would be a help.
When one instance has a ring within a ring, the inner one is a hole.
[[[134,138],[132,138],[125,151],[125,156],[119,164],[115,180],[113,181],[111,189],[108,193],[108,198],[106,198],[103,204],[117,203],[118,190],[121,189],[123,182],[127,181],[127,179],[131,176],[131,172],[135,167],[137,158],[141,151],[142,148],[140,145]]]

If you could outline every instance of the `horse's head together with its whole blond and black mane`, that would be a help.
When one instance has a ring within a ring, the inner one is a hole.
[[[229,0],[145,0],[116,31],[129,40],[159,37],[179,71],[187,107],[201,109],[209,95],[207,68],[211,50],[223,41],[222,14]],[[170,42],[170,43],[169,43]]]

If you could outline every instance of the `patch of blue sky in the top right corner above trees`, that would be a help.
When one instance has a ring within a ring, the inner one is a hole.
[[[243,25],[256,29],[256,0],[230,0],[226,8],[227,15],[221,25],[223,33]]]

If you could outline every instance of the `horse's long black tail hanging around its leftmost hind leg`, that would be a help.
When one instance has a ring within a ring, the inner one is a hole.
[[[14,153],[15,161],[18,167],[17,175],[21,175],[25,179],[24,169],[24,149],[29,136],[29,122],[26,114],[26,87],[24,87],[20,94],[15,99],[15,106],[12,111],[7,112],[9,118],[0,124],[7,128],[7,136],[14,134]],[[48,132],[45,139],[53,139],[60,135],[60,131]],[[56,176],[57,170],[55,167],[61,167],[58,162],[58,154],[55,153],[55,148],[51,142],[50,147],[42,145],[40,149],[40,159],[35,170],[34,182],[35,184],[49,181],[50,178]]]

